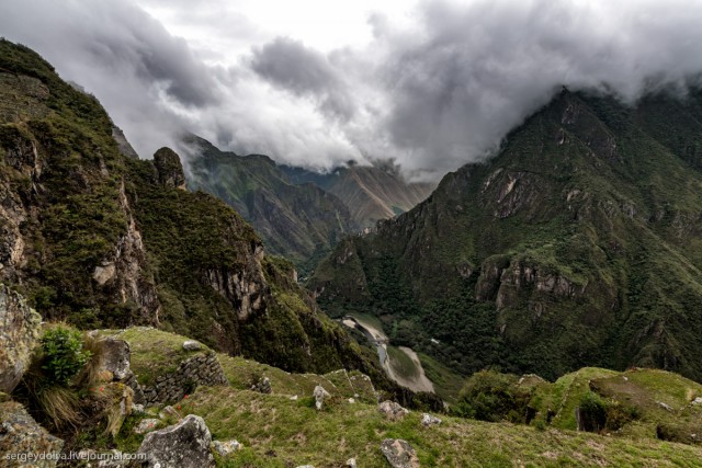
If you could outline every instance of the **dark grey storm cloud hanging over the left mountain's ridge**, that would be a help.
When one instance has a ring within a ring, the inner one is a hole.
[[[185,41],[127,1],[7,0],[0,32],[94,93],[141,156],[188,126],[174,110],[205,109],[220,94]]]

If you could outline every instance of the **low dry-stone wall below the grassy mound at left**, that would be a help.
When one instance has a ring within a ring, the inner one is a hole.
[[[178,401],[199,385],[228,385],[217,355],[213,352],[190,357],[178,370],[159,376],[150,386],[141,386],[146,406]]]

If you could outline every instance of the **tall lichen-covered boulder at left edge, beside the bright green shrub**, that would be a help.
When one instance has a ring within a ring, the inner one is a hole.
[[[38,343],[42,319],[18,293],[0,284],[0,391],[12,392]]]

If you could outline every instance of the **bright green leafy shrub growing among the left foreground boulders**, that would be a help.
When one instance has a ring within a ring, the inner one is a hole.
[[[42,336],[42,369],[56,384],[68,385],[88,363],[91,352],[83,349],[79,331],[64,327],[49,329]]]

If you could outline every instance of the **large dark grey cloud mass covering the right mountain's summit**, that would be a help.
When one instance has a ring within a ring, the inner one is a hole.
[[[479,159],[567,85],[633,101],[702,70],[702,3],[478,1],[422,4],[416,36],[374,23],[404,163],[442,170]]]

